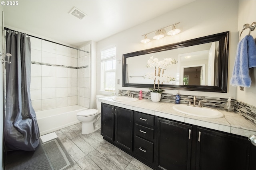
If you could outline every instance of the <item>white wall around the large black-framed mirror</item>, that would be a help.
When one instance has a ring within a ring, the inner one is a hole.
[[[176,22],[180,22],[180,24],[176,26],[181,29],[182,32],[180,34],[174,37],[166,36],[158,41],[152,40],[147,44],[140,43],[140,40],[143,38],[141,35]],[[232,75],[236,46],[238,43],[237,25],[238,0],[196,0],[181,8],[170,11],[162,16],[99,41],[97,44],[97,73],[100,72],[100,51],[110,45],[116,45],[116,60],[122,61],[122,55],[126,53],[230,31],[228,64],[229,82]],[[116,64],[116,83],[117,79],[120,79],[120,82],[122,82],[122,63]],[[100,76],[97,77],[97,82],[100,82]],[[118,89],[148,91],[147,88],[125,88],[122,87],[122,83],[119,85],[116,84],[116,90]],[[99,90],[100,83],[97,83],[97,93],[100,93]],[[235,98],[235,92],[236,88],[228,85],[227,93],[180,91],[180,94]],[[166,90],[165,93],[175,94],[176,91]]]

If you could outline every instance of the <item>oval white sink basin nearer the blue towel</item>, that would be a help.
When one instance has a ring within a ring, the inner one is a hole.
[[[193,107],[186,104],[174,105],[172,108],[181,113],[206,118],[221,118],[224,117],[223,113],[218,110],[210,109],[207,107]]]

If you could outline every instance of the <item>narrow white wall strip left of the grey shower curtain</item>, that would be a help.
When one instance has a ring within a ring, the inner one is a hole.
[[[0,23],[0,29],[2,31],[2,27],[4,25],[2,25],[2,10],[3,7],[0,6],[0,18],[1,18],[1,23]],[[0,33],[0,51],[3,52],[3,35],[2,33]],[[2,59],[2,57],[0,57],[0,59]],[[2,155],[2,151],[3,151],[3,64],[0,63],[0,170],[2,170],[2,160],[3,160],[3,155]]]

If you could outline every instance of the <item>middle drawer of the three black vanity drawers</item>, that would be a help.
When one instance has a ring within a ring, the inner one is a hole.
[[[148,139],[150,141],[154,140],[154,129],[138,125],[137,123],[134,126],[134,135],[143,137],[145,139]]]

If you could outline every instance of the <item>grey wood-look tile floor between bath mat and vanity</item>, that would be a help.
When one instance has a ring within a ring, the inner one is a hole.
[[[55,131],[75,162],[68,170],[152,170],[105,141],[100,130],[88,135],[81,131],[82,123]]]

